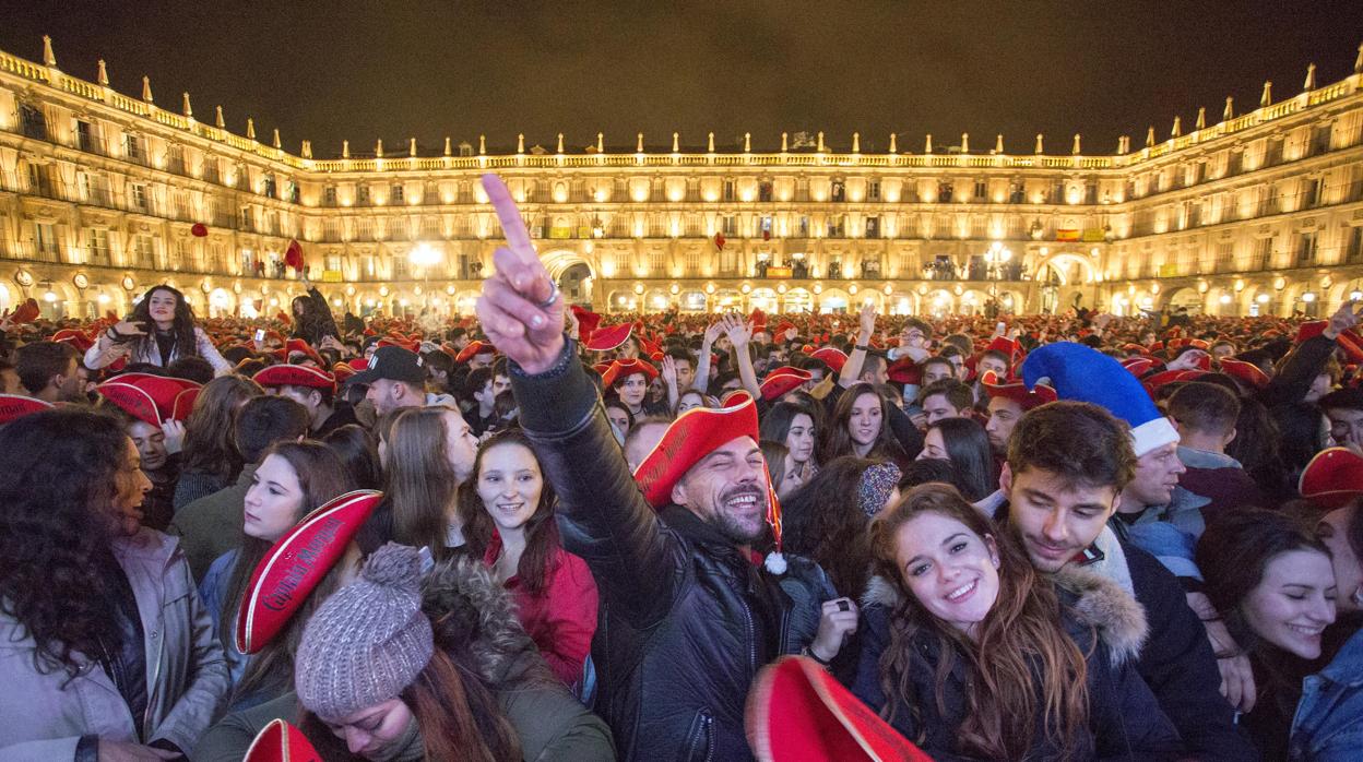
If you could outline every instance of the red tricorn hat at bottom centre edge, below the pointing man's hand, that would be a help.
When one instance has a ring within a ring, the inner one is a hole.
[[[932,762],[810,658],[758,672],[744,712],[758,762]]]

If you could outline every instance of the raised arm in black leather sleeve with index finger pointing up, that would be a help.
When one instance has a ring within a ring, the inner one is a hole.
[[[521,425],[559,496],[563,545],[592,568],[607,605],[647,626],[672,604],[686,568],[611,435],[601,398],[563,335],[563,299],[530,245],[506,185],[483,185],[507,245],[492,255],[477,314],[510,363]]]

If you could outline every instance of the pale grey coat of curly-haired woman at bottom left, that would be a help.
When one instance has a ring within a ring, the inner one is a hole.
[[[113,541],[142,620],[147,712],[128,705],[98,661],[70,679],[35,669],[33,638],[0,612],[0,761],[72,759],[80,736],[194,748],[228,691],[228,667],[176,540],[142,529]]]

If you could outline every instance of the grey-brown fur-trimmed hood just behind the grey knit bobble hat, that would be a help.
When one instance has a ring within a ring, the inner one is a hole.
[[[511,594],[477,559],[458,556],[436,564],[421,583],[421,609],[431,619],[436,645],[469,653],[489,684],[519,676],[527,657],[542,665]]]

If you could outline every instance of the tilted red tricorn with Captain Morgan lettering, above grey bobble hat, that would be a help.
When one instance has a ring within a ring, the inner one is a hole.
[[[373,489],[346,492],[327,500],[279,537],[256,564],[241,596],[237,650],[256,653],[285,628],[382,500],[383,492]]]

